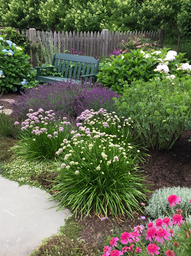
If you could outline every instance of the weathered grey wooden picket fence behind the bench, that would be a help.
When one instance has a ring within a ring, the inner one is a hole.
[[[83,56],[92,56],[95,59],[100,58],[102,55],[109,55],[111,52],[114,52],[114,49],[119,49],[119,43],[124,40],[125,42],[128,42],[132,37],[134,36],[140,36],[145,35],[147,38],[151,38],[153,41],[160,41],[160,47],[163,47],[163,41],[164,41],[164,29],[159,29],[158,31],[131,31],[131,32],[110,32],[108,29],[103,29],[103,31],[100,33],[96,32],[86,32],[84,33],[75,33],[60,32],[56,33],[56,31],[53,33],[50,31],[40,32],[36,31],[35,28],[30,28],[29,31],[24,33],[22,31],[23,35],[26,35],[28,39],[31,40],[33,46],[36,46],[37,42],[47,42],[49,44],[49,38],[51,37],[54,41],[54,47],[55,52],[59,45],[62,48],[62,52],[66,51],[66,53],[71,53],[71,51],[77,52],[79,54],[81,52],[81,55]],[[40,53],[40,50],[39,50]],[[31,64],[32,66],[37,66],[37,59],[36,59],[36,53],[31,51]],[[41,56],[41,53],[39,54]],[[42,62],[43,58],[41,59]]]

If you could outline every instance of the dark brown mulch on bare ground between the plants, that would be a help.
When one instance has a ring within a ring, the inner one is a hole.
[[[3,94],[2,99],[15,99],[21,94],[9,93]],[[3,104],[4,108],[11,108],[11,104]],[[141,166],[141,170],[144,170],[143,175],[145,182],[152,186],[147,186],[151,191],[163,187],[172,186],[185,186],[191,188],[191,142],[188,140],[191,138],[191,131],[184,130],[180,138],[176,141],[175,145],[170,150],[162,150],[161,152],[155,152],[149,150],[147,153],[150,155],[147,157],[147,163]],[[43,180],[39,180],[43,184]],[[47,187],[49,183],[44,181],[44,186]],[[150,197],[152,193],[147,193]],[[140,202],[141,203],[141,202]],[[143,206],[142,206],[143,207]],[[101,220],[100,217],[93,212],[85,220],[80,220],[80,215],[77,216],[79,223],[84,226],[81,231],[81,238],[85,240],[87,246],[92,244],[98,245],[102,250],[101,244],[106,241],[107,236],[114,234],[117,230],[121,229],[121,233],[124,231],[130,231],[130,227],[142,224],[139,219],[140,216],[144,216],[143,213],[136,212],[132,219],[127,216],[120,216],[121,221],[113,220],[111,215],[108,215],[108,219]],[[148,217],[145,215],[146,221]],[[98,255],[99,256],[99,255]]]

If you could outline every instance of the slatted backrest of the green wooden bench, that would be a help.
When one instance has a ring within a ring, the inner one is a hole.
[[[96,60],[89,56],[72,54],[54,54],[52,61],[53,73],[61,73],[64,78],[80,79],[80,76],[97,74],[99,69],[99,59]],[[60,74],[57,74],[60,76]],[[91,79],[92,77],[90,77]],[[89,78],[86,78],[86,81]]]

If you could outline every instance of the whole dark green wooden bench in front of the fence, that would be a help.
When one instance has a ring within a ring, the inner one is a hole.
[[[80,78],[96,81],[100,60],[96,60],[89,56],[80,56],[72,54],[54,54],[52,67],[35,67],[37,69],[37,81],[42,82],[59,82],[61,80],[67,81],[69,79],[80,83]],[[40,76],[40,69],[51,69],[55,76]]]

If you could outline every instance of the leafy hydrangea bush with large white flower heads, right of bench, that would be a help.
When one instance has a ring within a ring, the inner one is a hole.
[[[104,86],[109,88],[112,86],[114,92],[122,93],[124,84],[126,82],[131,84],[134,79],[143,79],[146,82],[155,76],[159,78],[169,75],[186,76],[188,70],[181,66],[182,61],[185,60],[182,59],[184,54],[177,55],[175,51],[167,52],[167,50],[169,49],[155,52],[134,50],[116,57],[110,56],[108,63],[100,63],[97,80]]]

